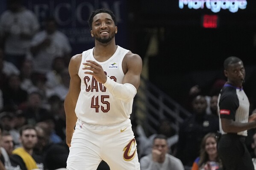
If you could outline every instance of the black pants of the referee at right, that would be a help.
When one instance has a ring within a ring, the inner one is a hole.
[[[244,143],[245,137],[236,134],[221,135],[218,155],[223,170],[254,170],[253,161]]]

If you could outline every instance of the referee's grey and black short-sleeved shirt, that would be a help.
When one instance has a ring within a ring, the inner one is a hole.
[[[218,112],[220,118],[232,119],[236,122],[247,123],[249,117],[250,103],[243,89],[237,88],[230,84],[225,84],[221,89],[218,98]],[[221,127],[222,134],[226,134]],[[237,133],[238,135],[247,136],[247,130]]]

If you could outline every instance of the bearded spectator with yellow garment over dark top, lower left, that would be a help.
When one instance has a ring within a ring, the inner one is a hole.
[[[10,157],[12,164],[17,164],[21,170],[44,170],[42,156],[36,155],[33,152],[37,143],[37,133],[32,125],[25,125],[20,130],[22,147],[13,150],[13,155]]]

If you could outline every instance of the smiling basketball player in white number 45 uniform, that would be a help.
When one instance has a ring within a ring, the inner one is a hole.
[[[140,84],[142,60],[115,44],[118,28],[111,11],[92,12],[88,23],[95,47],[73,56],[69,64],[67,168],[96,170],[104,160],[111,170],[139,170],[129,117]]]

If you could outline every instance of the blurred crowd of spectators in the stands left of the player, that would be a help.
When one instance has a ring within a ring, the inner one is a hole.
[[[0,14],[0,169],[65,168],[71,45],[54,17],[39,23],[22,0],[6,2]]]

